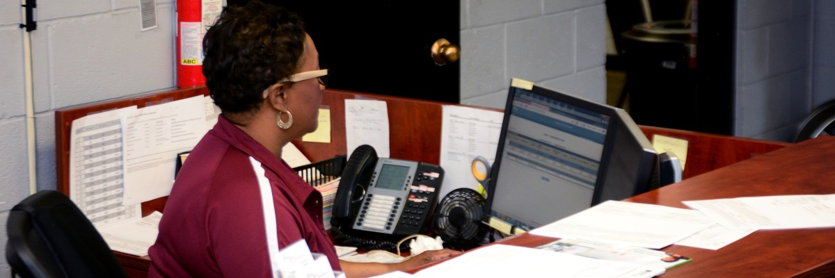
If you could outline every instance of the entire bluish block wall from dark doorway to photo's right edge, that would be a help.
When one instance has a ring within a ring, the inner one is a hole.
[[[835,99],[835,2],[737,0],[735,135],[791,141]]]

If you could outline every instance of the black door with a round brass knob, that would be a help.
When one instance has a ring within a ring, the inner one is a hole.
[[[264,2],[304,19],[330,69],[328,88],[460,103],[458,1]],[[448,44],[436,44],[442,38]]]

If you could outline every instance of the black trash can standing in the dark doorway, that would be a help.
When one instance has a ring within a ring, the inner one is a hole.
[[[684,21],[640,23],[625,33],[629,111],[635,123],[696,129],[695,38]]]

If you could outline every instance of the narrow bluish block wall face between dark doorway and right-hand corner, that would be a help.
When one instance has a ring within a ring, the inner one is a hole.
[[[788,140],[809,111],[811,1],[739,0],[735,134]]]

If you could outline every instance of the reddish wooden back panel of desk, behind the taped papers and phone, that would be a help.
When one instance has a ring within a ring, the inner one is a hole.
[[[142,108],[167,101],[208,94],[209,91],[205,86],[196,86],[56,111],[55,149],[58,166],[58,190],[67,195],[69,194],[69,138],[74,119],[109,109],[119,109],[131,105],[137,105],[139,108]],[[311,161],[321,161],[337,155],[347,154],[345,140],[345,99],[377,99],[386,101],[391,129],[391,157],[423,161],[432,164],[440,164],[443,105],[466,106],[326,89],[325,94],[322,96],[322,105],[326,105],[331,110],[331,143],[301,142],[301,139],[293,142]],[[499,109],[489,110],[502,111]],[[660,129],[645,126],[642,126],[641,129],[649,138],[651,138],[652,134],[664,134],[690,140],[690,150],[688,151],[687,166],[684,172],[685,178],[706,173],[727,164],[751,158],[753,155],[767,153],[773,149],[780,149],[788,145],[780,142],[701,134],[676,129]],[[163,197],[143,203],[143,216],[149,215],[154,210],[163,212],[166,200],[167,197]],[[137,257],[119,252],[116,254],[129,275],[134,277],[147,276],[150,262],[148,256]]]

